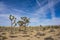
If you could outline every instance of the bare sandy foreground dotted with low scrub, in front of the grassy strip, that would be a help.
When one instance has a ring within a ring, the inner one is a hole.
[[[5,40],[60,40],[60,29],[47,30],[30,30],[24,33],[23,31],[15,34],[5,32],[7,39]],[[3,33],[3,32],[2,32]],[[1,34],[1,33],[0,33]]]

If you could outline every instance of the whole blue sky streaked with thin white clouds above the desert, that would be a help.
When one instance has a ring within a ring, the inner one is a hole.
[[[60,0],[0,0],[1,26],[10,26],[10,14],[29,17],[31,26],[60,25]]]

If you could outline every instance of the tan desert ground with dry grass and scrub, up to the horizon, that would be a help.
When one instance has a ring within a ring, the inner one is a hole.
[[[10,27],[0,27],[0,40],[60,40],[60,26],[52,26],[52,30],[50,26],[27,27],[20,31],[16,27],[13,34],[10,31]]]

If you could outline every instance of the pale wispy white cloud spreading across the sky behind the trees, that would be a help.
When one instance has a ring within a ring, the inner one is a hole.
[[[37,1],[37,0],[36,0]],[[46,0],[47,1],[47,0]],[[43,1],[41,4],[37,1],[37,4],[40,6],[39,9],[36,9],[32,13],[23,11],[21,9],[16,9],[13,7],[9,7],[8,5],[4,4],[4,2],[0,2],[0,25],[9,25],[9,15],[14,15],[18,20],[21,16],[30,17],[30,25],[60,25],[60,18],[55,17],[54,13],[54,6],[60,2],[59,0],[55,0],[53,3],[50,1],[49,3],[42,6],[46,1]],[[50,5],[50,6],[49,6]],[[49,6],[49,7],[48,7]],[[54,19],[48,19],[47,14],[49,9],[51,9],[52,17]],[[6,24],[5,24],[6,23]]]

